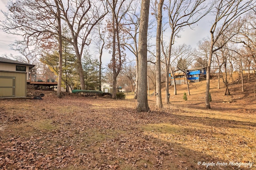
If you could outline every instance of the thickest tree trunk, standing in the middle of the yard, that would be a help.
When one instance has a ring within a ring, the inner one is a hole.
[[[136,111],[150,111],[147,96],[147,36],[150,0],[142,0],[140,10],[140,35],[138,47],[138,98]]]

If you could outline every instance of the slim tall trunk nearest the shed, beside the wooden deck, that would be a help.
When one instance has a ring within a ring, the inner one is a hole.
[[[61,18],[60,18],[60,7],[55,0],[57,7],[57,20],[58,20],[58,42],[59,42],[59,74],[58,74],[58,86],[57,86],[57,96],[61,98],[61,81],[62,81],[62,33],[61,33]]]

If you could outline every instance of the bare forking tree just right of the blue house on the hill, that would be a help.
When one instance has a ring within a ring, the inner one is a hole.
[[[213,21],[212,27],[210,29],[211,34],[211,45],[210,45],[210,53],[208,59],[208,65],[206,70],[206,108],[210,109],[210,100],[209,100],[209,92],[210,92],[210,68],[212,63],[212,55],[215,51],[218,51],[222,47],[215,48],[215,44],[218,41],[219,37],[223,35],[225,31],[230,27],[230,25],[242,14],[250,11],[253,6],[255,6],[256,2],[254,0],[218,0],[214,3],[214,15],[215,20]],[[217,27],[219,28],[217,29]],[[227,41],[231,39],[233,35],[230,35],[227,38]],[[225,43],[223,43],[225,45]]]

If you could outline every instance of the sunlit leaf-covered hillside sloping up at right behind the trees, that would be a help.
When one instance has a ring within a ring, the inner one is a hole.
[[[245,92],[242,92],[241,80],[238,81],[238,75],[234,75],[234,82],[230,81],[229,89],[230,96],[225,96],[225,86],[220,80],[220,89],[218,89],[218,79],[216,77],[210,80],[210,93],[212,96],[212,102],[210,106],[214,110],[218,111],[242,111],[252,113],[256,108],[256,101],[254,100],[254,84],[256,82],[253,75],[251,75],[250,81],[248,76],[244,76],[244,89]],[[191,109],[205,109],[205,89],[206,81],[196,82],[189,85],[190,87],[190,96],[188,100],[184,101],[182,99],[183,93],[187,93],[186,84],[177,85],[177,95],[173,95],[174,88],[170,86],[170,103],[175,107],[186,107]],[[150,94],[153,93],[150,92]],[[162,100],[164,103],[165,100],[165,88],[162,88]],[[154,107],[154,101],[156,101],[155,96],[148,97],[151,107]],[[168,107],[168,106],[165,106]],[[242,110],[241,110],[242,109]]]

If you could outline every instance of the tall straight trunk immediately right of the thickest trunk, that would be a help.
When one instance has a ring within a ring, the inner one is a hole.
[[[164,0],[160,0],[158,3],[158,16],[157,16],[157,28],[156,28],[156,107],[162,108],[162,94],[161,94],[161,27],[162,27],[162,6]]]

